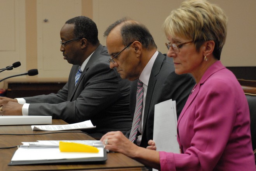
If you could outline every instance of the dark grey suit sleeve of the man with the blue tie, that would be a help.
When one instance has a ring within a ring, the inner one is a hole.
[[[78,85],[81,93],[75,100],[66,101],[68,85],[65,85],[57,95],[45,97],[51,98],[47,103],[30,104],[29,115],[52,116],[53,119],[77,123],[98,117],[120,97],[117,72],[110,69],[106,62],[98,62],[90,67],[84,77]],[[55,100],[54,104],[49,103]]]

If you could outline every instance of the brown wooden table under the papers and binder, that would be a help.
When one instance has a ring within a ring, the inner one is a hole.
[[[66,124],[66,122],[53,119],[52,124]],[[64,131],[47,131],[64,132]],[[79,133],[81,132],[81,133]],[[71,133],[54,133],[37,135],[46,131],[33,131],[31,125],[0,126],[0,134],[35,134],[35,135],[0,135],[0,148],[21,145],[21,142],[35,142],[37,140],[94,140],[82,131]],[[93,170],[93,171],[146,171],[145,166],[123,154],[108,153],[104,164],[47,164],[8,166],[12,155],[17,148],[0,149],[0,171],[46,171],[46,170]],[[40,154],[38,154],[40,155]]]

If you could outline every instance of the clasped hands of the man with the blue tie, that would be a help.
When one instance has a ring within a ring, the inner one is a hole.
[[[22,107],[22,104],[9,101],[0,106],[0,115],[22,115]]]

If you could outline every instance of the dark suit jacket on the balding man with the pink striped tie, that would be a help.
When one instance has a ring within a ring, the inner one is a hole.
[[[130,111],[132,118],[136,106],[137,81],[133,81],[131,85]],[[172,59],[159,52],[153,64],[148,82],[141,147],[146,148],[148,140],[153,139],[155,104],[169,99],[176,100],[178,118],[194,85],[195,81],[192,76],[189,74],[175,74]],[[126,134],[127,137],[129,132]]]

